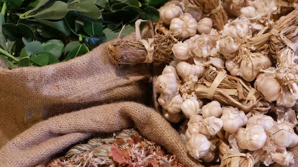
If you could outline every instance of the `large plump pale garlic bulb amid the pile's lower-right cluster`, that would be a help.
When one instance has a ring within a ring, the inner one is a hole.
[[[240,148],[255,151],[262,148],[267,140],[267,135],[261,125],[252,125],[240,128],[237,132],[237,142]]]

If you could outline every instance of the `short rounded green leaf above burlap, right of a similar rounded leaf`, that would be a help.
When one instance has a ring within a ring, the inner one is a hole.
[[[64,49],[64,44],[60,40],[50,40],[44,43],[43,51],[52,53],[54,56],[59,59]]]

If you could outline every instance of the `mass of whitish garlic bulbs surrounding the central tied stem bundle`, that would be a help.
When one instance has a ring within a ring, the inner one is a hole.
[[[171,1],[161,8],[161,23],[180,40],[172,47],[174,60],[155,81],[163,116],[173,123],[184,121],[180,135],[197,160],[221,161],[218,143],[225,141],[229,155],[247,154],[256,166],[289,165],[294,155],[288,148],[298,145],[294,132],[298,86],[295,82],[282,86],[280,76],[274,74],[274,57],[251,44],[274,25],[271,16],[278,14],[278,8],[270,0],[226,0],[223,7],[237,17],[230,18],[223,30],[213,29],[212,19],[187,1]],[[289,65],[298,68],[296,62],[297,58]],[[226,68],[230,75],[252,82],[271,102],[270,114],[244,113],[217,101],[204,105],[195,88],[210,66]]]

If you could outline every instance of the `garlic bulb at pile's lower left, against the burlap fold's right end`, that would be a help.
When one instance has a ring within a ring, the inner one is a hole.
[[[186,143],[188,153],[195,159],[200,159],[207,155],[210,147],[210,141],[203,134],[192,135],[190,140]]]

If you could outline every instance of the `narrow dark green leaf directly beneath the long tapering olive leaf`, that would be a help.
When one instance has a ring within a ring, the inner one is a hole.
[[[58,22],[50,22],[50,21],[47,21],[47,20],[40,20],[40,19],[30,20],[30,21],[39,22],[39,23],[42,23],[46,26],[55,28],[56,30],[60,31],[64,36],[69,36],[70,35],[70,30],[69,30],[69,28],[67,27],[66,23],[63,20],[58,21]]]

